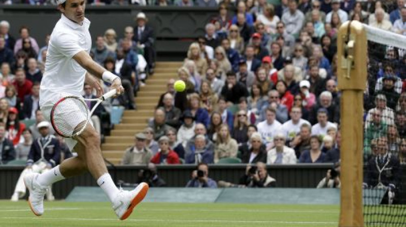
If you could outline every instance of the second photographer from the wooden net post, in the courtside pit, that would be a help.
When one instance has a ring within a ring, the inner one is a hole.
[[[266,164],[257,162],[256,166],[247,165],[246,173],[240,179],[246,187],[275,187],[276,180],[268,175]]]

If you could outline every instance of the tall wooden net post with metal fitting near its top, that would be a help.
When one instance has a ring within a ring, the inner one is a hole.
[[[337,80],[341,98],[340,227],[364,226],[362,214],[363,93],[367,65],[366,31],[347,21],[337,36]]]

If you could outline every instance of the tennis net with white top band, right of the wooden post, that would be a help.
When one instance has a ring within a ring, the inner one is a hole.
[[[365,26],[365,226],[406,226],[406,37]]]

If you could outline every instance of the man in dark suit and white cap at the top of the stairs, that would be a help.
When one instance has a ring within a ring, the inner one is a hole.
[[[154,50],[154,29],[147,25],[147,17],[144,13],[137,15],[137,26],[134,27],[133,41],[137,47],[144,50],[144,57],[148,63],[149,73],[154,72],[155,67],[155,50]]]

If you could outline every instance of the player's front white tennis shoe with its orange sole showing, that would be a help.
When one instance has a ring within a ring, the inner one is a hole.
[[[134,207],[147,195],[148,188],[147,183],[140,183],[136,189],[132,191],[120,190],[113,201],[113,210],[120,220],[126,219],[132,213]]]

